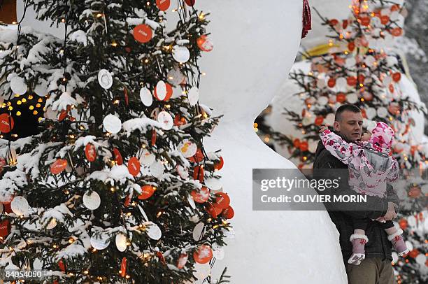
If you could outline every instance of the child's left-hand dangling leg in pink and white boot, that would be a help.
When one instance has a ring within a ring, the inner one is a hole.
[[[366,257],[364,246],[369,239],[366,236],[367,220],[352,218],[354,234],[350,236],[352,242],[352,255],[349,257],[348,263],[358,265]]]

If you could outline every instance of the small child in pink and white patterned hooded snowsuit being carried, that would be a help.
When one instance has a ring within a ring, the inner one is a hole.
[[[327,127],[322,127],[320,132],[322,144],[331,155],[349,165],[349,185],[352,190],[359,194],[386,197],[387,182],[398,178],[397,159],[389,155],[394,139],[391,127],[378,122],[371,135],[364,134],[360,143],[348,143]],[[365,258],[364,245],[369,241],[365,232],[367,223],[367,219],[352,218],[354,234],[350,236],[352,255],[348,260],[349,264],[358,265]],[[379,225],[385,229],[388,240],[399,255],[408,253],[401,229],[394,227],[392,221],[383,220]]]

